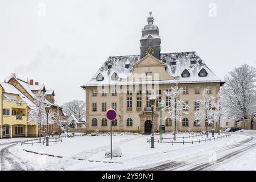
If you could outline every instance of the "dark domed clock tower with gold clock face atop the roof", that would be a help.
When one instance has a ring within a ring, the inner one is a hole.
[[[140,40],[141,59],[149,53],[157,59],[160,59],[161,39],[158,26],[154,24],[152,12],[150,12],[150,16],[147,17],[147,22],[148,24],[142,29],[142,37]]]

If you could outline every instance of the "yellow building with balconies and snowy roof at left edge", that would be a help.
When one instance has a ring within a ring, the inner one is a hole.
[[[28,111],[35,107],[22,92],[13,85],[0,82],[1,125],[0,138],[36,137],[36,125],[28,125]]]

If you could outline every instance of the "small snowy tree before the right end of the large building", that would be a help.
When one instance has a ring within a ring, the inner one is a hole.
[[[199,121],[201,123],[201,119],[205,119],[206,127],[208,123],[213,123],[213,110],[212,104],[214,102],[214,97],[209,96],[209,88],[206,88],[202,94],[202,100],[195,101],[195,121]],[[215,118],[215,117],[214,117]],[[207,121],[207,122],[206,122]],[[208,137],[208,130],[207,130],[207,137]]]

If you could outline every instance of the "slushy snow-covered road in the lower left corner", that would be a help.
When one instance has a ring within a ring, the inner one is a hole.
[[[26,171],[32,168],[27,167],[21,159],[17,158],[15,155],[11,154],[9,148],[19,144],[22,140],[15,140],[10,142],[10,140],[1,141],[0,143],[0,171]]]

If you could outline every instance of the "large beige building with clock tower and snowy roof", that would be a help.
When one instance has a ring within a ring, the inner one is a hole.
[[[200,59],[196,52],[160,53],[159,28],[151,13],[148,24],[142,30],[141,55],[109,57],[96,74],[81,87],[86,90],[86,130],[92,132],[131,131],[151,133],[152,112],[149,97],[154,94],[156,104],[153,113],[154,131],[160,127],[159,102],[170,104],[165,91],[177,83],[183,88],[180,99],[191,107],[177,122],[179,131],[205,131],[206,125],[195,121],[195,110],[200,105],[203,91],[215,97],[224,84]],[[115,121],[106,119],[110,107],[117,111]],[[163,110],[162,125],[165,131],[174,130],[174,118]],[[205,119],[204,119],[205,121]]]

